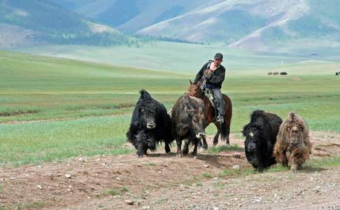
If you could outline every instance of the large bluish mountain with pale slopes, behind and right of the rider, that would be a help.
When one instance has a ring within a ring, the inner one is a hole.
[[[125,32],[248,50],[339,41],[338,0],[54,1]]]

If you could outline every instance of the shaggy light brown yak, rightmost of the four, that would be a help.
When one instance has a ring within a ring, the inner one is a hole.
[[[285,166],[288,166],[288,162],[290,162],[290,169],[292,172],[296,172],[297,168],[309,159],[311,147],[306,121],[301,116],[290,113],[278,131],[274,146],[276,161]]]

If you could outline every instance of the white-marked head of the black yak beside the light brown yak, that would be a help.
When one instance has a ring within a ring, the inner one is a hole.
[[[246,151],[256,151],[259,140],[262,137],[262,126],[258,123],[248,123],[243,127],[242,134],[243,137],[246,137],[246,141],[244,141]]]

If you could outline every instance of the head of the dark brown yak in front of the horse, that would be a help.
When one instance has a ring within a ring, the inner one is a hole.
[[[204,104],[201,99],[185,94],[184,111],[190,120],[188,123],[192,129],[192,134],[194,134],[197,139],[204,138],[206,136],[204,131],[206,119],[204,116]]]

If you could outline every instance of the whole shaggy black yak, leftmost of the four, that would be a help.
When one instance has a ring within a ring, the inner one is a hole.
[[[165,152],[170,152],[169,144],[173,141],[171,118],[164,105],[146,90],[141,90],[141,97],[132,113],[127,139],[134,145],[139,157],[146,155],[148,149],[155,151],[160,141],[164,141]]]

